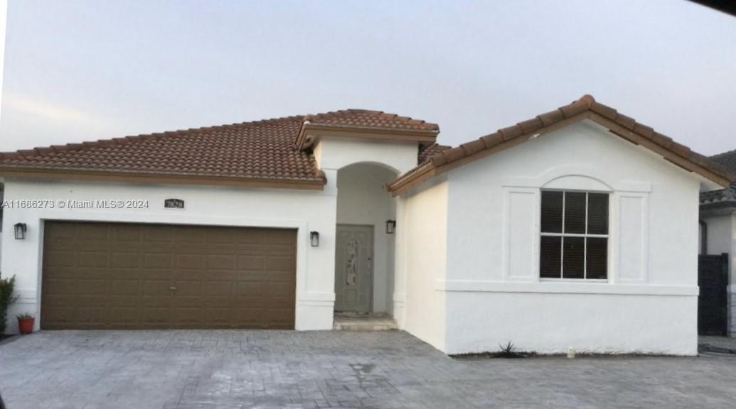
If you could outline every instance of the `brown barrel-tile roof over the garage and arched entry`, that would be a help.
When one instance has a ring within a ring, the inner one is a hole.
[[[0,167],[324,184],[314,156],[294,146],[305,120],[326,126],[439,131],[438,126],[423,120],[347,109],[0,153]],[[419,159],[425,161],[445,148],[431,145],[419,153]]]

